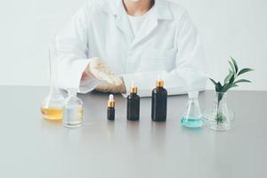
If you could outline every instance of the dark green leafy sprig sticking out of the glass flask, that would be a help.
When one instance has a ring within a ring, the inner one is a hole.
[[[231,57],[231,61],[229,61],[229,64],[230,64],[229,74],[224,78],[223,85],[221,82],[215,82],[214,79],[209,78],[213,82],[213,84],[215,85],[215,91],[217,93],[226,93],[232,87],[239,86],[238,85],[239,83],[251,83],[251,81],[249,81],[247,79],[239,79],[239,80],[237,80],[237,79],[242,74],[245,74],[245,73],[252,71],[254,69],[245,68],[245,69],[239,70],[239,66],[238,66],[237,61],[235,61],[232,57]],[[218,97],[219,97],[218,101],[221,101],[223,98],[223,94],[219,94]]]

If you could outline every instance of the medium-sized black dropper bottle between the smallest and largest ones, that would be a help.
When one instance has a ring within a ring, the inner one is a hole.
[[[140,97],[137,94],[137,86],[132,85],[130,94],[127,96],[127,119],[132,121],[139,120]]]

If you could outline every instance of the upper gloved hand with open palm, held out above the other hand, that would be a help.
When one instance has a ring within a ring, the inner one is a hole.
[[[87,79],[97,78],[109,85],[122,85],[123,82],[120,77],[116,77],[114,72],[109,69],[104,61],[100,58],[93,58],[87,68],[85,69],[82,81]]]

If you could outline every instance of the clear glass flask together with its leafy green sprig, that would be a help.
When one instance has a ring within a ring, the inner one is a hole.
[[[223,85],[221,82],[215,82],[214,79],[210,80],[215,85],[216,97],[214,103],[214,109],[210,121],[210,128],[213,130],[224,131],[231,128],[231,118],[226,103],[227,92],[233,88],[239,86],[240,83],[251,83],[247,79],[239,79],[242,74],[245,74],[253,69],[245,68],[239,69],[237,61],[231,58],[229,61],[230,69],[229,74],[224,78]]]

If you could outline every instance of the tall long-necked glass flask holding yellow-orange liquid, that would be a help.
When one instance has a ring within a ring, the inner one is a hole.
[[[49,68],[50,68],[50,92],[44,98],[41,106],[43,117],[49,120],[62,119],[62,107],[64,97],[58,88],[57,75],[57,53],[55,47],[55,36],[52,37],[49,45]]]

